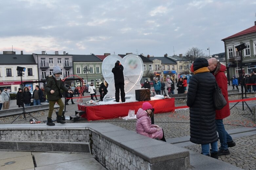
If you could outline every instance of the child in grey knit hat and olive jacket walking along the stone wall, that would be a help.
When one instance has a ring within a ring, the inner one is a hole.
[[[47,84],[45,87],[45,91],[47,94],[47,100],[49,100],[49,113],[47,117],[47,125],[54,126],[55,124],[52,122],[51,116],[54,109],[54,104],[57,102],[60,106],[59,112],[57,115],[57,123],[64,124],[66,123],[64,120],[62,120],[62,112],[64,109],[63,101],[61,100],[62,94],[60,90],[63,90],[68,93],[73,93],[72,91],[69,91],[67,87],[65,87],[62,84],[60,75],[62,71],[59,66],[55,66],[53,68],[53,75],[49,76],[47,79]]]

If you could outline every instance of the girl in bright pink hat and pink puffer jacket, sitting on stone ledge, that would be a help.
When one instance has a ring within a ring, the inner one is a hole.
[[[153,139],[159,138],[166,142],[163,129],[158,125],[151,124],[152,108],[149,102],[144,102],[142,108],[139,108],[136,115],[136,132]]]

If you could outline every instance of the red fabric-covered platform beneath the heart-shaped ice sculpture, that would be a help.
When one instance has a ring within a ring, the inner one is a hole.
[[[78,109],[85,111],[82,117],[87,120],[102,120],[128,116],[129,110],[135,110],[135,114],[145,101],[135,101],[120,104],[106,105],[79,105]],[[154,114],[174,111],[174,98],[148,101],[155,109]]]

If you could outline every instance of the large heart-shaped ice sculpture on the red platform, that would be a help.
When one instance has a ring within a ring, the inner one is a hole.
[[[102,62],[102,75],[108,83],[108,93],[104,98],[115,97],[115,81],[112,68],[116,61],[124,67],[125,94],[135,95],[135,90],[141,89],[140,80],[143,76],[143,61],[136,54],[128,54],[124,58],[119,55],[108,55]]]

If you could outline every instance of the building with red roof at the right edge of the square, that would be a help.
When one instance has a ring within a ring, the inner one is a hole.
[[[241,64],[243,73],[250,74],[256,70],[256,21],[254,26],[222,39],[222,41],[225,43],[228,80],[234,75],[238,77],[241,74]],[[246,48],[242,50],[241,58],[240,51],[236,51],[235,47],[243,43],[246,44]]]

